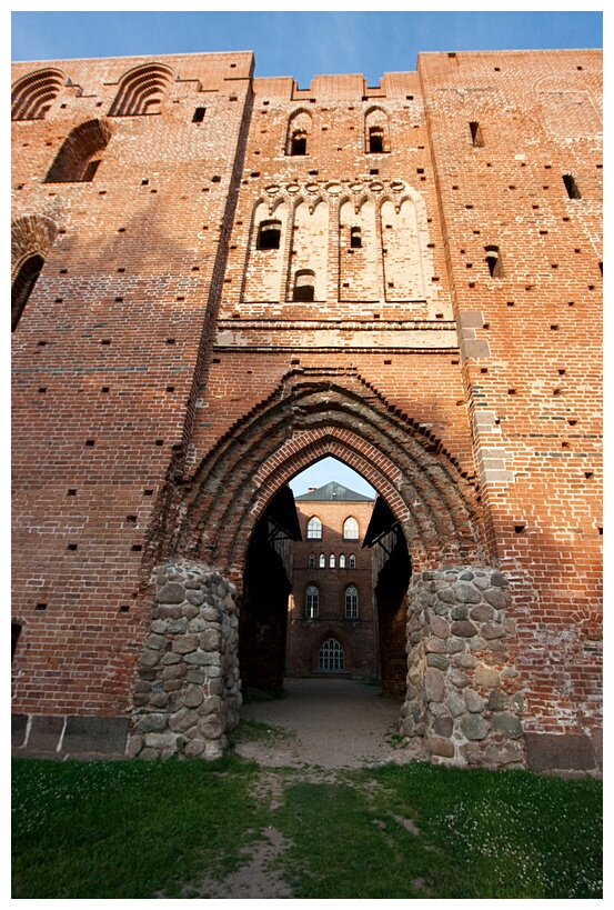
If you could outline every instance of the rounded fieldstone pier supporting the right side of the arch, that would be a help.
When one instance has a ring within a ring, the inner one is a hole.
[[[505,637],[509,582],[487,568],[411,579],[407,692],[401,732],[424,738],[437,764],[525,767],[519,673]]]

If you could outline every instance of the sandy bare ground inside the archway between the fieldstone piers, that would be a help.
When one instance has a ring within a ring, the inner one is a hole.
[[[238,742],[239,754],[269,768],[360,768],[423,758],[400,743],[395,722],[402,702],[383,696],[379,687],[345,679],[286,679],[284,689],[284,699],[242,708],[242,720],[271,724],[272,733]]]

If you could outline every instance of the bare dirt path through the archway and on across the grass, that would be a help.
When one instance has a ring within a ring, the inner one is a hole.
[[[400,699],[345,679],[286,679],[286,697],[250,701],[241,711],[235,751],[256,761],[253,796],[271,809],[283,802],[293,781],[334,782],[345,768],[424,758],[395,736]],[[264,693],[262,693],[264,696]],[[280,770],[274,770],[280,769]],[[288,769],[283,771],[281,769]],[[413,826],[406,819],[400,823]],[[417,829],[409,828],[412,833]],[[184,889],[187,898],[291,899],[276,860],[292,844],[274,828],[242,850],[244,864],[222,881],[205,878]],[[162,896],[160,896],[162,897]]]

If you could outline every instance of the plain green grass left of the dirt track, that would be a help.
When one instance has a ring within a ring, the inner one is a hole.
[[[147,898],[222,878],[262,827],[254,770],[225,759],[13,762],[17,898]]]

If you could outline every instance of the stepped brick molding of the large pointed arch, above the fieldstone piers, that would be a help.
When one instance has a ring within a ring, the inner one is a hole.
[[[289,374],[200,464],[171,546],[240,577],[251,533],[296,473],[333,456],[362,474],[400,522],[415,568],[483,559],[476,490],[442,446],[358,374]]]

